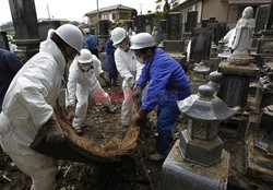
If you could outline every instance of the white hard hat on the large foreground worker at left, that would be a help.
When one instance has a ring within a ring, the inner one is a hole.
[[[78,52],[83,46],[83,34],[81,29],[72,24],[63,24],[56,29],[56,34]]]

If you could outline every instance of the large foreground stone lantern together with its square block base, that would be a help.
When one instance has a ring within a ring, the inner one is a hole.
[[[162,190],[227,189],[229,154],[223,150],[218,124],[235,110],[214,95],[209,85],[178,102],[188,120],[162,168]]]

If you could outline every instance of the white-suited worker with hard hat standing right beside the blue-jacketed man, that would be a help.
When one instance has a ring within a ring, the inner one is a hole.
[[[134,52],[130,49],[130,37],[126,29],[116,27],[111,32],[112,45],[117,47],[115,61],[119,74],[123,79],[122,91],[124,99],[121,107],[121,124],[123,129],[129,127],[131,110],[133,105],[133,87],[138,81],[143,64],[136,61]]]

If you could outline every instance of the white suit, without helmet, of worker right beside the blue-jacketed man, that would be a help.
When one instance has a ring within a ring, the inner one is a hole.
[[[129,86],[128,80],[132,78],[134,81],[138,81],[144,64],[136,61],[136,57],[131,49],[126,52],[118,48],[115,51],[115,61],[117,70],[123,79],[122,91],[124,99],[121,108],[121,124],[129,126],[133,102],[132,90]]]

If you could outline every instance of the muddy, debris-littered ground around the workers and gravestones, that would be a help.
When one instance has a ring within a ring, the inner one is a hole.
[[[118,88],[116,87],[115,91]],[[117,112],[120,112],[121,102],[115,103]],[[109,118],[104,114],[102,105],[94,105],[88,109],[86,126],[100,123],[102,128],[120,130],[120,115]],[[161,167],[163,162],[151,162],[147,156],[155,151],[156,120],[152,115],[151,130],[145,138],[139,140],[138,146],[128,153],[123,164],[112,168],[99,168],[81,163],[59,161],[57,189],[59,190],[159,190]],[[179,131],[186,128],[186,121],[179,118],[174,133],[173,144],[179,139]],[[92,129],[92,128],[88,128]],[[104,131],[104,129],[102,129]],[[115,131],[115,130],[114,130]],[[102,140],[105,134],[96,134]],[[229,190],[273,189],[269,185],[260,186],[259,181],[248,179],[245,174],[245,141],[244,136],[235,133],[221,133],[225,150],[230,154],[230,169],[228,178]],[[29,189],[31,178],[21,173],[12,161],[0,150],[0,189],[24,190]]]

